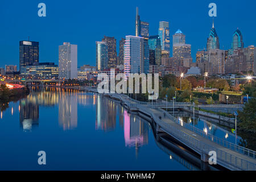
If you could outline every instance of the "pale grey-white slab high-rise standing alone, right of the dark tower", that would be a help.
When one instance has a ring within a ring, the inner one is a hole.
[[[59,78],[77,78],[77,45],[64,42],[59,46]]]

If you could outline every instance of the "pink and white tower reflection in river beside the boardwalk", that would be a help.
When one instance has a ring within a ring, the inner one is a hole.
[[[135,117],[124,111],[125,146],[135,147],[136,156],[139,147],[148,143],[148,125],[141,118]]]

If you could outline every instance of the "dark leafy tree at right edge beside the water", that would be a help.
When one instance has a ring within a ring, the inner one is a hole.
[[[242,131],[256,133],[256,99],[251,99],[243,108],[243,111],[238,111],[238,127]]]

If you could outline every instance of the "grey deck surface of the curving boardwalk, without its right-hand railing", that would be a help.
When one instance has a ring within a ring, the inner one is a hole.
[[[122,100],[126,99],[122,98]],[[216,151],[217,163],[221,166],[233,170],[255,170],[255,159],[240,154],[239,152],[230,150],[229,148],[221,146],[216,142],[213,142],[201,135],[194,133],[189,129],[186,129],[178,123],[172,121],[172,119],[168,118],[168,113],[164,115],[164,110],[161,110],[159,108],[152,108],[150,105],[139,105],[135,101],[131,100],[126,100],[125,102],[130,102],[133,108],[136,105],[138,110],[141,110],[143,113],[151,115],[154,118],[155,122],[159,125],[161,125],[161,122],[165,123],[166,126],[168,125],[168,127],[164,127],[162,125],[162,129],[168,134],[172,135],[172,137],[180,140],[181,143],[184,143],[189,148],[192,148],[192,150],[196,151],[197,153],[202,154],[202,152],[206,152],[208,154],[209,151]],[[161,117],[161,119],[159,119],[159,117]],[[183,136],[177,134],[177,131],[179,131],[179,133],[182,133]],[[202,146],[204,146],[205,148]]]

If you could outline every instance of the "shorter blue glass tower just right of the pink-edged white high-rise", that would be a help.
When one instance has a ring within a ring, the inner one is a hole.
[[[154,60],[155,64],[160,65],[161,64],[161,53],[162,53],[162,47],[161,47],[161,40],[159,35],[150,36],[148,39],[148,46],[151,52],[151,60],[152,60],[152,54],[154,51]]]

